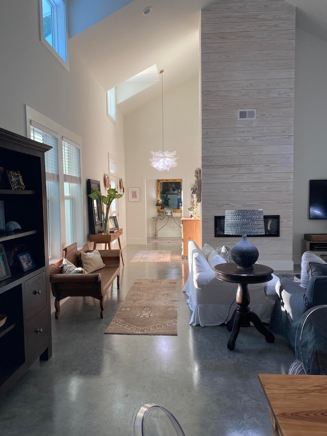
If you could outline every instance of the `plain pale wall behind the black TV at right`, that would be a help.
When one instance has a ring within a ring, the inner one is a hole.
[[[305,233],[327,233],[326,220],[309,220],[309,180],[327,179],[327,41],[296,31],[293,260],[300,263]]]

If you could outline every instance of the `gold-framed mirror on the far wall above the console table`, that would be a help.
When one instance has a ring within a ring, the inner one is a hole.
[[[158,179],[157,180],[157,201],[162,201],[160,208],[172,209],[173,212],[182,212],[182,179]]]

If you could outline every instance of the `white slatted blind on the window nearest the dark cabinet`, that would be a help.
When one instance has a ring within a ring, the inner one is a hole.
[[[58,181],[58,138],[54,136],[55,132],[40,126],[34,121],[31,121],[30,128],[32,140],[52,147],[44,155],[45,178],[46,180]]]

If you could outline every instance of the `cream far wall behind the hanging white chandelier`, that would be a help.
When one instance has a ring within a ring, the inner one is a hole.
[[[126,202],[126,214],[133,217],[127,222],[127,242],[143,244],[154,236],[157,179],[182,178],[183,216],[188,216],[194,170],[200,165],[198,77],[164,94],[164,149],[177,151],[176,168],[157,171],[149,164],[151,151],[162,150],[161,96],[126,116],[124,125],[126,188],[141,188],[141,201]],[[166,227],[158,236],[181,235],[173,222]]]

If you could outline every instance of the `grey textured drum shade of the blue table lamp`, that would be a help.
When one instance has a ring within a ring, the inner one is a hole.
[[[262,209],[225,211],[225,235],[264,235],[265,223]]]

